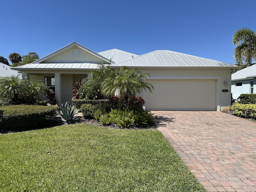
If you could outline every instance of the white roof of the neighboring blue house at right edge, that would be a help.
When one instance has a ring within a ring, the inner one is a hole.
[[[256,64],[233,73],[231,75],[231,80],[252,79],[254,77],[256,77]]]

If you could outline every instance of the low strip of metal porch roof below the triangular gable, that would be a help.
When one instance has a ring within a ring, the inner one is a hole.
[[[30,63],[15,67],[15,70],[88,70],[97,69],[96,63]]]

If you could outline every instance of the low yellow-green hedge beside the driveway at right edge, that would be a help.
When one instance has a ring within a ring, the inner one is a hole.
[[[256,104],[235,103],[230,107],[230,110],[238,117],[256,119]]]

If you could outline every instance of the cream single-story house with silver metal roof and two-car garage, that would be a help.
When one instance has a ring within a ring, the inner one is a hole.
[[[100,62],[111,62],[113,70],[127,66],[150,74],[146,82],[154,86],[153,93],[141,94],[146,110],[220,111],[230,106],[230,70],[236,66],[169,50],[141,56],[117,49],[96,53],[73,42],[13,69],[21,70],[32,81],[42,80],[55,88],[61,104],[71,101],[72,85],[97,70]]]

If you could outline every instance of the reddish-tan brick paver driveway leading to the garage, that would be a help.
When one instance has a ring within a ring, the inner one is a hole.
[[[222,112],[152,112],[208,192],[256,192],[256,122]]]

